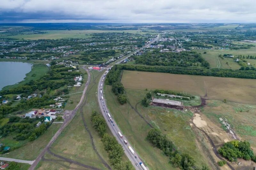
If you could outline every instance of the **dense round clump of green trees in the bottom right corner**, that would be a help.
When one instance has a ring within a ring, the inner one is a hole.
[[[229,161],[237,161],[237,158],[252,160],[256,162],[256,155],[253,154],[248,141],[233,140],[220,147],[218,152]]]

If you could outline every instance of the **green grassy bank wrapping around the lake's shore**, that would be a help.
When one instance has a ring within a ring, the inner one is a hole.
[[[11,61],[11,60],[1,59],[0,61]],[[30,60],[12,60],[12,61],[27,62],[27,61],[30,61]],[[39,79],[48,71],[48,68],[44,63],[34,62],[34,61],[32,61],[32,62],[30,61],[29,63],[32,63],[33,66],[32,66],[31,71],[26,74],[26,77],[24,78],[24,80],[20,81],[17,84],[5,86],[2,90],[8,90],[8,89],[11,89],[11,88],[16,88],[16,87],[19,87],[20,85],[24,85],[25,83],[27,83],[31,80]]]

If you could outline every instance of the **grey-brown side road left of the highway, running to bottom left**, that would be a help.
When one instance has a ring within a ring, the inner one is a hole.
[[[44,156],[44,154],[46,153],[46,151],[50,148],[50,146],[53,144],[53,142],[58,138],[58,136],[60,135],[60,133],[63,131],[63,129],[70,123],[70,121],[73,119],[73,117],[76,115],[76,111],[78,110],[78,108],[81,106],[81,104],[83,103],[84,97],[85,97],[85,93],[86,90],[89,86],[89,82],[91,80],[91,74],[88,71],[88,69],[85,68],[87,74],[88,74],[88,79],[87,82],[85,84],[84,87],[84,91],[82,94],[82,97],[80,99],[80,102],[76,105],[76,108],[74,110],[72,110],[72,112],[65,117],[65,121],[64,123],[60,126],[60,129],[55,133],[55,135],[52,137],[52,139],[50,140],[50,142],[46,145],[46,147],[44,148],[44,150],[38,155],[38,157],[36,158],[36,160],[33,162],[33,164],[30,166],[29,170],[34,170],[36,165],[38,164],[38,162],[42,159],[42,157]]]

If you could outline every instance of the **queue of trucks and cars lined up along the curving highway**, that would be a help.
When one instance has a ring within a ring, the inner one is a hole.
[[[110,69],[111,69],[111,68],[110,68]],[[108,69],[108,70],[110,70],[110,69]],[[105,76],[106,76],[107,73],[108,73],[108,71],[105,72],[104,77],[103,77],[103,79],[102,79],[102,82],[104,81]],[[103,103],[102,86],[103,86],[103,84],[101,83],[101,84],[100,84],[100,95],[101,95],[101,98],[100,98],[100,99],[102,100],[102,103]],[[105,105],[103,104],[103,106],[105,106]],[[104,108],[103,108],[103,110],[104,110]],[[104,112],[105,112],[105,110],[104,110]],[[108,118],[109,118],[109,121],[110,121],[111,123],[113,123],[113,119],[112,119],[111,115],[108,113],[107,110],[106,110],[105,113],[107,114],[107,116],[108,116]],[[114,126],[114,124],[113,124],[113,126]],[[117,133],[118,133],[119,137],[122,139],[122,138],[123,138],[123,134],[122,134],[120,131],[118,131]],[[127,142],[125,139],[123,140],[123,142],[124,142],[125,145],[128,144],[128,142]],[[129,145],[128,145],[128,149],[129,149],[129,151],[132,153],[132,155],[135,153],[134,150],[132,149],[132,147],[129,146]],[[135,158],[137,159],[137,156],[135,156]],[[135,163],[135,164],[136,164],[136,166],[138,166],[138,163]],[[140,164],[140,166],[141,166],[141,168],[142,168],[143,170],[148,170],[148,169],[146,168],[146,166],[145,166],[142,162],[139,162],[139,164]]]

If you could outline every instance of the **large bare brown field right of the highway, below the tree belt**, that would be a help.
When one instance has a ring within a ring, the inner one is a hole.
[[[124,70],[126,89],[166,89],[206,98],[256,104],[256,80]],[[207,95],[207,96],[206,96]]]

